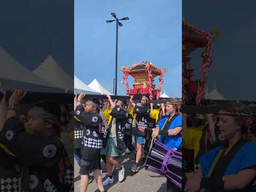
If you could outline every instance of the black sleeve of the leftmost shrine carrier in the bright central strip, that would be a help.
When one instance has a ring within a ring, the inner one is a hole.
[[[82,105],[78,105],[75,110],[75,117],[85,126],[99,126],[100,116],[97,113],[87,113]]]

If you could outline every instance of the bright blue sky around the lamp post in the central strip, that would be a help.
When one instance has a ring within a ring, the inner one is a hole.
[[[141,61],[167,68],[162,90],[181,98],[181,1],[75,1],[75,75],[85,84],[94,78],[113,93],[115,78],[116,13],[118,29],[117,94],[125,95],[121,66]],[[158,78],[157,78],[158,80]],[[158,81],[156,81],[158,82]],[[133,78],[129,78],[132,87]]]

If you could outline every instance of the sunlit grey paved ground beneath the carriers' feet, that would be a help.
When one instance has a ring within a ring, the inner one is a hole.
[[[126,154],[118,158],[118,161],[121,162],[121,165],[125,167],[125,180],[123,182],[118,182],[118,171],[115,170],[113,173],[113,177],[115,179],[114,183],[107,186],[108,192],[139,192],[139,191],[147,191],[147,192],[164,192],[166,191],[166,178],[159,177],[158,174],[153,172],[146,171],[142,168],[138,173],[134,174],[131,171],[131,167],[133,165],[133,155]],[[101,162],[101,166],[103,169],[103,180],[106,179],[107,171],[104,162]],[[75,178],[79,179],[79,167],[75,161]],[[75,180],[76,180],[75,179]],[[78,188],[80,184],[80,180],[75,182],[75,192],[79,192]],[[89,184],[87,192],[97,191],[97,185],[93,180],[92,183]]]

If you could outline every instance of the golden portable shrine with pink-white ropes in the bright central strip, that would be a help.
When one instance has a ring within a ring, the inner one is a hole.
[[[162,84],[164,82],[164,73],[166,68],[157,68],[151,62],[135,63],[130,67],[122,66],[123,71],[122,83],[126,85],[126,94],[149,94],[149,99],[159,99],[161,97]],[[133,89],[129,90],[128,75],[134,78]],[[154,78],[159,76],[158,89],[154,83]]]

